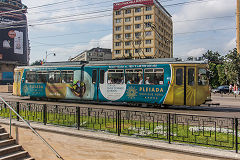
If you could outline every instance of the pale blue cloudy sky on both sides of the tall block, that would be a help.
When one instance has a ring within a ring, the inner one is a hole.
[[[112,48],[113,3],[122,0],[22,0],[28,6],[30,63],[67,61],[93,47]],[[174,57],[225,55],[236,47],[236,0],[159,0],[172,15]],[[54,54],[56,56],[54,56]]]

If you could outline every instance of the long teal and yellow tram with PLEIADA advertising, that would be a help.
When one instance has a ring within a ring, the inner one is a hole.
[[[198,106],[210,91],[203,61],[139,59],[17,67],[13,94],[32,99]]]

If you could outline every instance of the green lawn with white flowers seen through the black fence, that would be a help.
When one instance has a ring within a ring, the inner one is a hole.
[[[91,112],[92,113],[92,112]],[[9,109],[0,108],[0,117],[9,118]],[[20,115],[28,121],[44,122],[42,111],[20,110]],[[12,114],[16,119],[16,115]],[[104,116],[103,114],[81,114],[80,127],[90,130],[117,133],[117,119],[115,114]],[[47,113],[47,123],[77,127],[77,116],[75,113]],[[151,139],[168,141],[168,124],[155,121],[136,121],[124,119],[121,121],[121,134]],[[222,149],[235,149],[235,132],[230,128],[198,127],[188,124],[171,123],[171,142],[196,144],[200,146],[212,146]],[[204,131],[203,131],[204,130]],[[239,139],[239,136],[238,136]],[[239,139],[240,140],[240,139]]]

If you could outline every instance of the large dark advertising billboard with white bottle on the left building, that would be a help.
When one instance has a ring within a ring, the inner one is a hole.
[[[22,11],[0,8],[0,61],[28,64],[27,20]]]

